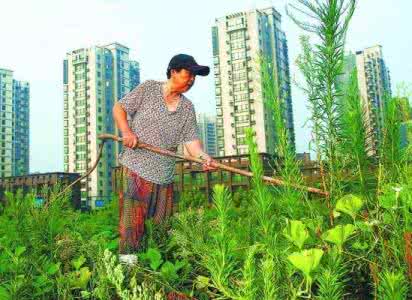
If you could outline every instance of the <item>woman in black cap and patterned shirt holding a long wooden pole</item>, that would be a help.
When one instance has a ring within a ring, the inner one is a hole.
[[[136,148],[139,140],[173,151],[184,144],[191,156],[205,160],[204,170],[215,169],[211,167],[214,160],[199,140],[194,106],[183,95],[193,86],[196,75],[207,76],[209,71],[190,55],[176,55],[167,68],[166,82],[145,81],[113,107],[125,146],[119,156],[125,177],[119,199],[121,262],[136,262],[134,253],[143,237],[145,220],[153,218],[158,224],[173,209],[175,160]]]

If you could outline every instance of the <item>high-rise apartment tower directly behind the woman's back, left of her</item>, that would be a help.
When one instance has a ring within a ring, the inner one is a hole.
[[[63,65],[64,170],[83,174],[97,159],[97,136],[116,134],[112,107],[139,84],[139,65],[118,43],[71,51]],[[82,205],[93,208],[95,200],[111,197],[118,152],[117,143],[105,145],[96,170],[82,182]]]

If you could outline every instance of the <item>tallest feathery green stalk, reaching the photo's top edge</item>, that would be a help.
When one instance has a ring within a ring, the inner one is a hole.
[[[305,31],[314,33],[319,42],[315,44],[313,65],[310,78],[305,78],[307,84],[312,84],[316,91],[312,115],[317,127],[317,138],[321,158],[327,168],[327,188],[332,199],[340,193],[341,181],[341,115],[339,97],[339,76],[344,63],[344,45],[349,22],[355,10],[356,0],[295,0],[297,3],[288,5],[288,15]],[[291,13],[310,17],[314,23],[300,21]],[[305,73],[304,73],[305,75]],[[313,104],[313,102],[311,103]]]

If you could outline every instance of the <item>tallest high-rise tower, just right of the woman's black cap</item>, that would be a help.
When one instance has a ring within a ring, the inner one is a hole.
[[[212,43],[217,154],[248,153],[247,127],[256,132],[259,152],[275,152],[275,127],[269,103],[274,99],[264,101],[260,55],[277,76],[284,120],[294,146],[288,47],[280,13],[269,7],[218,18],[212,27]]]

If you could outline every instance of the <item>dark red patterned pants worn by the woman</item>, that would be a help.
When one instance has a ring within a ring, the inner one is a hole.
[[[123,167],[119,191],[119,253],[135,253],[144,235],[145,220],[159,224],[173,211],[173,183],[156,184]]]

